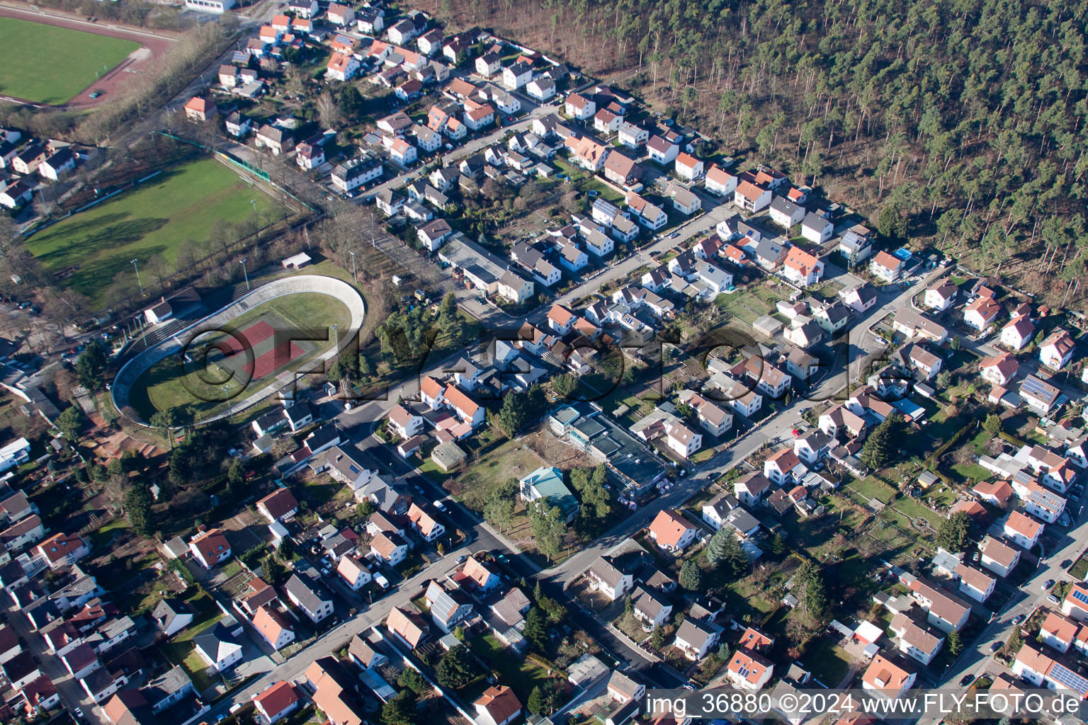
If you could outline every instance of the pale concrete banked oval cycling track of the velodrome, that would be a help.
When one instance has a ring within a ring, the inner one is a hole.
[[[329,297],[333,297],[343,302],[351,313],[351,323],[349,327],[351,334],[345,335],[343,334],[343,330],[338,330],[336,345],[321,355],[311,360],[310,363],[331,360],[336,357],[342,349],[350,343],[351,338],[355,337],[355,332],[362,327],[362,320],[367,313],[367,305],[362,300],[362,296],[346,282],[342,282],[334,277],[312,274],[283,277],[282,279],[274,279],[250,292],[247,292],[246,295],[243,295],[226,307],[213,312],[202,320],[198,320],[188,327],[174,333],[170,338],[162,340],[151,348],[148,348],[126,362],[121,366],[121,370],[118,371],[116,377],[113,378],[113,386],[110,390],[113,404],[122,415],[126,416],[134,423],[145,426],[149,425],[148,422],[140,418],[132,405],[128,404],[128,393],[132,391],[133,384],[136,383],[145,371],[166,355],[176,353],[184,349],[189,341],[191,332],[197,329],[214,329],[231,322],[238,315],[259,304],[263,304],[264,302],[274,300],[279,297],[296,295],[298,292],[327,295]],[[235,415],[250,405],[256,405],[283,387],[281,378],[286,374],[287,373],[281,373],[271,384],[248,396],[245,400],[232,404],[228,411],[222,411],[215,415],[203,418],[199,422],[199,424],[202,425],[205,423],[211,423],[212,421],[226,417],[227,415]]]

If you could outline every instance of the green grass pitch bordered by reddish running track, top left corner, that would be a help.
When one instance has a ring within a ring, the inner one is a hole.
[[[0,92],[65,103],[139,47],[132,40],[0,17]]]

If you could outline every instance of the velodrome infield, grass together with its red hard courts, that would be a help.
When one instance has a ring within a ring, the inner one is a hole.
[[[347,307],[329,295],[297,292],[238,315],[230,329],[194,337],[187,358],[168,355],[133,385],[128,402],[145,421],[159,410],[193,405],[197,420],[260,391],[285,371],[297,371],[334,345],[332,325],[351,323]],[[305,337],[325,339],[298,339]],[[225,390],[224,390],[225,388]]]

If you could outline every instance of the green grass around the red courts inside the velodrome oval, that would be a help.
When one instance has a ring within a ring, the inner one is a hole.
[[[336,298],[318,292],[296,292],[258,304],[232,320],[230,325],[240,335],[240,330],[259,318],[275,329],[308,328],[316,335],[327,334],[330,337],[331,332],[326,330],[332,325],[335,324],[337,329],[344,330],[351,323],[347,305]],[[226,338],[226,334],[221,333],[209,337],[207,341],[214,342]],[[234,345],[238,342],[235,341]],[[257,346],[257,351],[254,353],[255,363],[259,360],[262,347],[270,345],[265,340]],[[333,340],[299,339],[297,345],[302,349],[302,354],[273,368],[261,378],[254,377],[249,380],[243,375],[227,382],[228,374],[211,363],[212,355],[209,355],[207,366],[199,363],[187,364],[180,354],[168,355],[136,378],[128,393],[128,402],[144,420],[150,420],[156,411],[184,405],[191,405],[196,410],[197,420],[202,420],[226,409],[225,402],[214,400],[222,397],[220,389],[224,384],[231,388],[230,393],[234,396],[231,404],[236,405],[263,389],[284,370],[298,370],[320,355],[333,345]],[[199,353],[195,357],[199,358]],[[231,364],[237,366],[243,362],[245,361],[239,358],[237,363]],[[245,384],[244,389],[240,388],[243,384]]]

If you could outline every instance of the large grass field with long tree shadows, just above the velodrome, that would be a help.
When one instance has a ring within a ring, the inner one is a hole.
[[[3,18],[0,18],[3,20]],[[203,241],[219,220],[251,223],[257,200],[267,223],[272,200],[213,159],[157,177],[32,236],[26,247],[46,268],[96,302],[132,259],[162,254],[171,264],[185,239]]]

